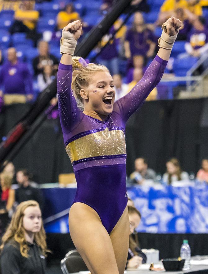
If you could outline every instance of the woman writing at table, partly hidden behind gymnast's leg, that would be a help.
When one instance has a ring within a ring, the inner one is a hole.
[[[137,235],[133,238],[135,229],[141,221],[140,212],[133,206],[128,206],[130,232],[129,232],[129,253],[127,258],[127,269],[137,269],[142,263],[146,263],[147,257],[138,246]],[[136,238],[136,240],[135,240]]]

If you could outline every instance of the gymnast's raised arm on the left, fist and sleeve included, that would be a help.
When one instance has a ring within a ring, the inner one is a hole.
[[[68,24],[62,32],[61,49],[62,57],[57,73],[58,108],[64,141],[67,133],[80,121],[81,111],[71,90],[72,81],[72,55],[77,39],[80,37],[82,25],[79,20]]]

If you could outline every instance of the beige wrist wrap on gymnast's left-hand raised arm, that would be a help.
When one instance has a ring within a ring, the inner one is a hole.
[[[60,53],[66,53],[74,55],[75,47],[77,45],[77,40],[75,40],[74,35],[70,31],[62,30],[62,37],[60,40]]]

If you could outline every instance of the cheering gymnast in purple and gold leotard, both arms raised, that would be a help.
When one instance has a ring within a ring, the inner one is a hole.
[[[108,69],[72,57],[81,34],[80,21],[63,29],[58,105],[65,147],[77,181],[69,229],[92,274],[124,273],[129,248],[125,124],[159,83],[181,26],[174,17],[163,24],[157,56],[136,86],[115,103]]]

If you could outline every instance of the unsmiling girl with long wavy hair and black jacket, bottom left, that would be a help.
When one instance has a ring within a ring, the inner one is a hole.
[[[46,234],[36,201],[19,204],[0,246],[1,273],[45,274]]]

